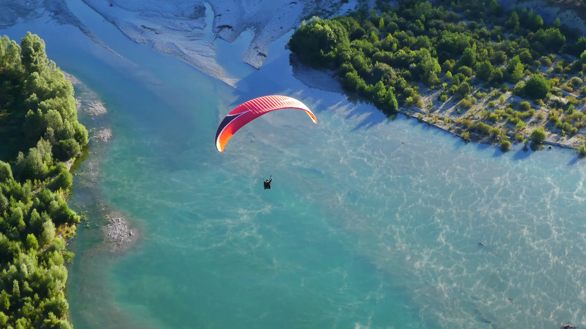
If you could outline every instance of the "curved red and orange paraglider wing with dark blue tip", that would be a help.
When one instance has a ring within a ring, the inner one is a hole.
[[[295,100],[295,98],[281,95],[254,98],[254,100],[238,105],[220,122],[216,132],[216,149],[224,152],[224,146],[226,146],[228,140],[230,140],[238,129],[265,113],[284,108],[302,109],[311,116],[315,124],[318,123],[314,113],[301,101]]]

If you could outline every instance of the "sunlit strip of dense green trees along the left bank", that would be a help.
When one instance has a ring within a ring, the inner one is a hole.
[[[66,240],[81,217],[67,205],[73,177],[65,162],[88,144],[71,83],[29,33],[0,38],[0,327],[59,328]]]

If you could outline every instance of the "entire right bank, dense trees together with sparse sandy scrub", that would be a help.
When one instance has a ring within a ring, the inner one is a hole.
[[[531,140],[586,154],[586,37],[496,0],[393,4],[304,20],[288,47],[389,117],[503,150]]]

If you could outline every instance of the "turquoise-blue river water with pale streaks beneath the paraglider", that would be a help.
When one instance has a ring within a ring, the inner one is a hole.
[[[38,33],[110,111],[114,137],[95,146],[100,196],[76,181],[72,202],[117,208],[139,239],[110,252],[97,218],[80,227],[67,291],[76,328],[586,325],[575,153],[502,153],[414,119],[387,121],[292,77],[288,36],[260,71],[237,64],[244,42],[219,46],[218,61],[242,79],[234,89],[69,6],[120,56],[47,18],[2,33]],[[299,98],[318,125],[272,112],[218,153],[220,117],[266,94]]]

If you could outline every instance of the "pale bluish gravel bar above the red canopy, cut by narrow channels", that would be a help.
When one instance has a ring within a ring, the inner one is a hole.
[[[234,42],[245,30],[253,40],[243,61],[260,68],[268,45],[301,22],[316,2],[331,6],[338,0],[83,0],[137,43],[151,43],[234,86],[214,57],[213,35]],[[206,26],[206,4],[212,26]]]

